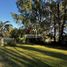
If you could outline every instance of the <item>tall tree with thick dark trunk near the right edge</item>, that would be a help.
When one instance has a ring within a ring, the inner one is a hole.
[[[59,42],[63,40],[64,26],[66,24],[66,13],[67,13],[67,1],[66,0],[56,0],[57,6],[57,22],[59,28]]]

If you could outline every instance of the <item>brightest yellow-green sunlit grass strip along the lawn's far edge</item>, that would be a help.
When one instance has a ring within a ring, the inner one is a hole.
[[[40,45],[22,45],[22,46],[27,46],[27,47],[33,47],[39,50],[43,50],[43,51],[49,51],[49,52],[54,52],[54,53],[62,53],[67,55],[67,50],[61,50],[61,49],[55,49],[55,48],[48,48],[45,46],[40,46]]]

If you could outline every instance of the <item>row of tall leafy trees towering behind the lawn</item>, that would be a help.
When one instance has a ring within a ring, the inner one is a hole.
[[[46,33],[54,41],[62,41],[67,34],[67,0],[17,0],[19,14],[12,13],[23,28]]]

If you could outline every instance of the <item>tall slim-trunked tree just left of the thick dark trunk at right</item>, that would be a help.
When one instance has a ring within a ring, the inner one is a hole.
[[[51,11],[51,26],[52,26],[52,30],[53,30],[53,36],[54,36],[54,42],[56,42],[56,35],[57,35],[57,6],[56,6],[56,2],[54,0],[50,1],[50,11]]]

